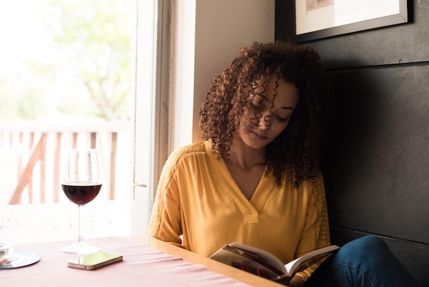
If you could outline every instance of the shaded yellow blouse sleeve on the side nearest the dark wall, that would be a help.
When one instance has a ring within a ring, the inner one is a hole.
[[[297,248],[295,257],[300,257],[310,251],[329,246],[330,231],[328,221],[328,207],[326,204],[325,187],[321,174],[315,179],[312,185],[310,200],[308,200],[308,209],[306,223]],[[313,264],[301,273],[295,276],[308,279],[323,260]]]

